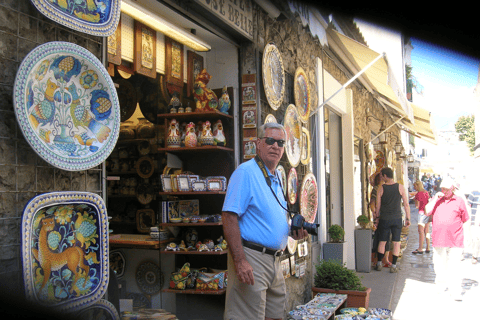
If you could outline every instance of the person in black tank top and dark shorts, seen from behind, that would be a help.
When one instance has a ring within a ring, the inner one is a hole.
[[[388,240],[388,233],[392,233],[393,257],[390,272],[397,272],[397,259],[400,255],[400,235],[402,233],[403,218],[401,203],[405,208],[406,221],[405,225],[410,226],[410,205],[408,204],[408,196],[405,187],[393,180],[393,170],[391,168],[383,168],[380,171],[382,175],[383,185],[377,190],[377,204],[375,207],[374,218],[379,218],[378,228],[379,240],[377,250],[377,265],[375,270],[381,271],[383,268],[382,259],[385,255],[385,244]]]

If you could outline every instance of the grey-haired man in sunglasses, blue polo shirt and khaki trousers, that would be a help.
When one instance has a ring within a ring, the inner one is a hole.
[[[257,157],[232,174],[222,221],[229,245],[224,319],[282,319],[285,281],[280,256],[288,241],[287,201],[276,172],[285,145],[281,124],[259,128]],[[294,239],[308,235],[292,233]]]

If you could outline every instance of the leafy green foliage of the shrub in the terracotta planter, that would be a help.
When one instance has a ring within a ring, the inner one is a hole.
[[[336,260],[321,260],[316,266],[314,284],[317,288],[365,291],[360,277]]]

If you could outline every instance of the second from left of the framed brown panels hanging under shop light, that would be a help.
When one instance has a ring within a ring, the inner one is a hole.
[[[135,72],[150,78],[157,77],[157,32],[135,21]]]

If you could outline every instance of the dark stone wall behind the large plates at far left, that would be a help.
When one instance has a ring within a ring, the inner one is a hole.
[[[24,206],[36,194],[90,191],[101,194],[101,166],[68,172],[43,161],[24,139],[13,109],[13,85],[23,58],[36,46],[68,41],[101,60],[103,38],[74,32],[44,17],[30,0],[0,2],[0,287],[23,288],[20,227]]]

